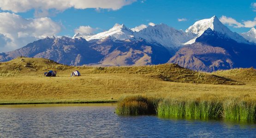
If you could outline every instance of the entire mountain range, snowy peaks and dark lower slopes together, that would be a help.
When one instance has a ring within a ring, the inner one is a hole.
[[[166,24],[132,30],[124,24],[115,24],[112,29],[98,34],[47,37],[12,52],[0,53],[0,62],[25,56],[74,66],[177,63],[206,72],[256,67],[256,29],[238,34],[216,16],[197,21],[185,32]]]

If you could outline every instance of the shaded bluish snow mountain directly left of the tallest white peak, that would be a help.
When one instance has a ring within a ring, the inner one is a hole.
[[[139,32],[134,32],[134,37],[137,39],[142,38],[148,42],[159,43],[169,48],[180,47],[182,43],[189,40],[182,30],[176,30],[162,23],[155,26],[149,25]]]

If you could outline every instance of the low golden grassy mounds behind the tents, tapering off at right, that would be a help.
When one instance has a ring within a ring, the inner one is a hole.
[[[56,63],[44,58],[18,57],[1,63],[1,76],[42,75],[44,71],[56,70],[59,76],[68,76],[72,70],[78,69],[82,74],[138,74],[159,78],[163,81],[182,83],[205,83],[242,85],[243,83],[226,79],[217,75],[201,73],[185,69],[177,64],[160,64],[133,67],[74,67]],[[13,74],[12,74],[13,72]]]

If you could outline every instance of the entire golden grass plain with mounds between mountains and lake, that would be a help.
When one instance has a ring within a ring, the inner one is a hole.
[[[57,77],[44,77],[53,69]],[[70,77],[73,70],[82,76]],[[129,95],[246,98],[256,101],[256,69],[195,72],[175,64],[72,67],[43,58],[0,63],[0,104],[115,102]]]

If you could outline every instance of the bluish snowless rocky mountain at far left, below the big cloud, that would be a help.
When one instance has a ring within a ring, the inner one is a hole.
[[[10,60],[18,56],[42,57],[58,63],[79,65],[99,62],[103,55],[89,47],[90,43],[84,39],[68,37],[37,40],[18,50],[7,52],[0,61]]]

